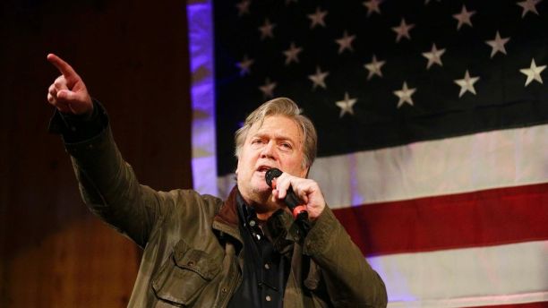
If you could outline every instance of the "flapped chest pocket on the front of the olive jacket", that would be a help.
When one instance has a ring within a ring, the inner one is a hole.
[[[181,240],[152,280],[152,288],[158,298],[171,304],[193,304],[219,270],[207,252]]]

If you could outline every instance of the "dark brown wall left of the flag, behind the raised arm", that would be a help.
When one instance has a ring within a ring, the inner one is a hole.
[[[141,183],[188,188],[190,73],[184,1],[0,4],[0,307],[124,307],[140,252],[83,205],[60,138],[47,133],[47,53],[109,113]]]

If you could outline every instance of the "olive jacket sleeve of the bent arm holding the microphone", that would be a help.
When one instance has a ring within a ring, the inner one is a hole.
[[[386,307],[384,282],[372,270],[345,228],[326,207],[304,239],[304,254],[321,268],[336,307]]]

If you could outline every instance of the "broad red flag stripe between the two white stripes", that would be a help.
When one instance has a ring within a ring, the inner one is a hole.
[[[548,184],[335,210],[364,255],[548,239]]]

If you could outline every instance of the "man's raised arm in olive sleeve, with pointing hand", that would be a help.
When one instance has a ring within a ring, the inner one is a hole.
[[[58,112],[50,125],[64,137],[81,196],[90,210],[133,241],[144,246],[154,226],[173,208],[169,193],[139,184],[112,137],[107,114],[90,98],[81,77],[70,64],[49,54],[61,73],[47,90],[47,101]],[[95,104],[95,105],[94,105]],[[51,129],[50,131],[55,131]]]

